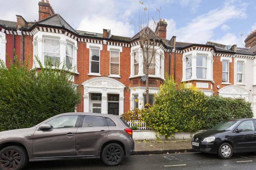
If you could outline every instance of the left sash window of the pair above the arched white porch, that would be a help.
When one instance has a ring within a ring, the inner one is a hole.
[[[100,73],[100,49],[90,49],[90,73]]]

